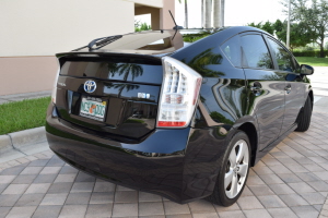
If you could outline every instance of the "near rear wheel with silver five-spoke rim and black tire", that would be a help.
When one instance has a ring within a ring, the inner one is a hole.
[[[221,162],[214,191],[207,199],[226,207],[233,205],[245,187],[249,164],[250,143],[248,136],[245,132],[238,131],[229,143]]]

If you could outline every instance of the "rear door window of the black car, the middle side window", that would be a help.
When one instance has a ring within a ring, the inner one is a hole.
[[[273,69],[268,47],[260,35],[242,36],[243,65],[259,69]]]

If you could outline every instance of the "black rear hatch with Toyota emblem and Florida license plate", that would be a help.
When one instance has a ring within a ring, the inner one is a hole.
[[[136,143],[156,124],[161,58],[143,55],[57,55],[56,107],[61,121],[86,133]]]

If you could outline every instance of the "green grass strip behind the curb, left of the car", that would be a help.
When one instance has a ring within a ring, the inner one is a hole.
[[[0,105],[0,135],[46,124],[50,97]]]

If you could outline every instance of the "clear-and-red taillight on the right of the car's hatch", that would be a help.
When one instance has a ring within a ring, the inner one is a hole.
[[[202,77],[185,63],[164,57],[157,128],[185,128],[194,114]]]

